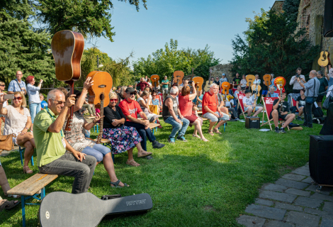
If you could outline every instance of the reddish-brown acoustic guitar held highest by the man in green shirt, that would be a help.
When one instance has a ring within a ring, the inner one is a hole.
[[[81,77],[81,57],[84,51],[84,37],[81,33],[64,30],[53,35],[51,43],[52,55],[55,59],[55,77],[69,84],[70,93],[74,94],[74,81]],[[65,131],[70,131],[74,106],[67,121]]]

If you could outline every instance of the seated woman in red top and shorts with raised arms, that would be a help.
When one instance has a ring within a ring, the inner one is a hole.
[[[193,94],[190,94],[190,87],[186,86],[181,89],[181,93],[179,93],[179,111],[184,118],[188,119],[190,123],[195,127],[193,137],[201,138],[204,142],[208,142],[203,136],[203,131],[201,126],[203,125],[202,118],[198,118],[198,116],[192,114],[193,102],[192,100],[196,98],[196,89],[193,90]],[[171,99],[170,99],[171,100]],[[171,116],[172,117],[172,116]],[[199,135],[197,134],[199,133]]]

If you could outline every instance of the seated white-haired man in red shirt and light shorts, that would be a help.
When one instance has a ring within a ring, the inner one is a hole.
[[[230,120],[229,115],[222,113],[218,106],[218,84],[210,84],[209,91],[205,92],[203,95],[203,117],[210,120],[208,128],[210,135],[214,135],[214,133],[221,134],[218,128]],[[220,122],[218,122],[219,120]],[[215,126],[215,128],[213,128],[213,126]]]

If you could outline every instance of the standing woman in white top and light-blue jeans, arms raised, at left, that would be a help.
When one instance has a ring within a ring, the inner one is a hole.
[[[29,100],[29,109],[30,109],[30,116],[31,116],[31,127],[30,130],[33,131],[33,121],[35,120],[36,114],[40,111],[40,97],[39,91],[40,87],[42,87],[43,79],[40,79],[38,87],[35,87],[35,77],[28,76],[26,79],[27,82],[27,92],[28,92],[28,100]]]

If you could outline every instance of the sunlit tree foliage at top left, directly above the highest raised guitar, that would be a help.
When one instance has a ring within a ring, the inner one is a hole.
[[[124,1],[124,0],[118,0]],[[130,0],[139,10],[140,0]],[[146,0],[142,0],[145,9]],[[72,1],[72,0],[43,0],[34,1],[32,6],[37,11],[37,18],[50,33],[55,34],[62,30],[78,31],[89,37],[105,37],[113,42],[113,27],[111,26],[112,1]]]

